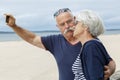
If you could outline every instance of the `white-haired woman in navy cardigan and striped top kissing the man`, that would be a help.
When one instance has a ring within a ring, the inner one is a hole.
[[[72,66],[74,80],[104,80],[104,66],[112,58],[97,38],[103,32],[103,22],[95,12],[84,10],[76,16],[74,37],[82,48]]]

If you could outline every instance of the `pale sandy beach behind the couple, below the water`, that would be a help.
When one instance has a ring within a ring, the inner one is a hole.
[[[120,70],[120,34],[99,37]],[[0,80],[58,80],[54,57],[25,41],[0,42]]]

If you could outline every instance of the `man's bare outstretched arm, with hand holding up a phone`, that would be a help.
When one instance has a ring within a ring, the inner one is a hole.
[[[18,34],[22,39],[25,41],[29,42],[30,44],[37,46],[39,48],[44,48],[42,42],[41,42],[41,37],[35,35],[33,32],[30,32],[28,30],[25,30],[15,23],[15,18],[10,15],[10,14],[5,14],[6,16],[6,23],[8,26],[10,26],[16,34]]]

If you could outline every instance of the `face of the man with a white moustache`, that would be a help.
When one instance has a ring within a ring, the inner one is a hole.
[[[69,12],[61,13],[56,17],[57,26],[64,36],[73,36],[75,26],[74,16]]]

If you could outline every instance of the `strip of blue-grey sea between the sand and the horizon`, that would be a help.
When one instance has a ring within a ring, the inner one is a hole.
[[[32,31],[39,36],[48,36],[60,34],[59,31]],[[120,29],[109,29],[106,30],[104,35],[115,35],[120,34]],[[2,32],[0,31],[0,42],[4,41],[21,41],[22,39],[14,32]]]

